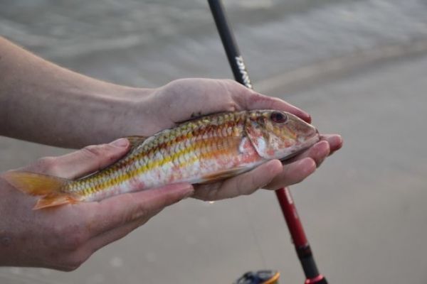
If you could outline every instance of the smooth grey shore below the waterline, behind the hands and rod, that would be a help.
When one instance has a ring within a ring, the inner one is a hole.
[[[280,96],[344,148],[292,187],[330,283],[426,283],[427,56],[400,58]],[[256,87],[256,84],[255,84]],[[285,92],[283,86],[283,92]],[[0,170],[66,150],[0,138]],[[304,278],[273,192],[184,200],[72,273],[1,268],[0,283],[231,283],[274,268]]]

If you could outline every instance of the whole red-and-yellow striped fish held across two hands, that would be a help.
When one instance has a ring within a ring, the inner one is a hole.
[[[9,171],[16,189],[40,197],[33,209],[96,202],[179,182],[216,182],[272,159],[285,161],[320,140],[311,124],[285,111],[228,111],[184,121],[153,136],[128,137],[120,160],[76,180]]]

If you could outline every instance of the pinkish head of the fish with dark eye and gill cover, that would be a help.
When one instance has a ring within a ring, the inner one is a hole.
[[[249,111],[246,135],[258,155],[285,160],[319,141],[319,132],[311,124],[285,111]]]

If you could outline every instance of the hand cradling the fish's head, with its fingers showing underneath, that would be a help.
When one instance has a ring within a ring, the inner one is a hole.
[[[243,109],[278,109],[288,111],[310,123],[310,115],[281,99],[258,94],[232,80],[183,79],[155,89],[144,98],[144,129],[152,135],[174,126],[179,121],[219,111]],[[142,124],[140,125],[142,126]],[[145,131],[145,132],[144,132]],[[201,200],[221,200],[249,195],[260,187],[276,190],[301,182],[325,158],[342,146],[338,135],[324,135],[314,146],[300,153],[287,164],[271,160],[243,175],[208,185],[196,185],[194,197]]]

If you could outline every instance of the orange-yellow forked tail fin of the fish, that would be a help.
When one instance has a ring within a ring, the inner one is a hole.
[[[7,172],[2,174],[1,177],[17,190],[27,195],[40,196],[41,199],[37,201],[33,209],[73,204],[80,201],[80,198],[73,193],[61,192],[61,189],[72,180],[20,171]]]

